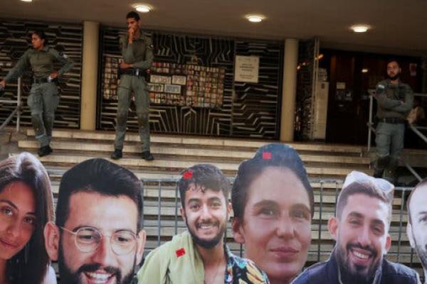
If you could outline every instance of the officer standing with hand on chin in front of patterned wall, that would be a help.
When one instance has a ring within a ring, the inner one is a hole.
[[[126,22],[127,35],[120,36],[120,49],[123,55],[123,62],[120,63],[122,77],[117,90],[115,150],[111,158],[115,160],[122,158],[127,112],[133,92],[137,107],[139,138],[142,143],[142,158],[154,160],[152,153],[149,152],[149,97],[145,82],[147,70],[151,67],[154,58],[152,43],[139,28],[141,23],[138,13],[135,11],[127,13]]]

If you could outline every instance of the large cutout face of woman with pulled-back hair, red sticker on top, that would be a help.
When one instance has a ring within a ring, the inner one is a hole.
[[[233,236],[271,283],[300,273],[311,242],[312,187],[297,152],[269,144],[238,168],[231,195]]]

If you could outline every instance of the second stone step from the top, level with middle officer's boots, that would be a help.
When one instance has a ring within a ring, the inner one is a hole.
[[[19,148],[36,149],[38,148],[38,142],[35,140],[19,141]],[[95,143],[95,142],[84,142],[79,141],[52,141],[51,147],[54,150],[69,150],[69,151],[88,151],[88,152],[106,152],[111,153],[114,151],[112,143]],[[209,148],[187,148],[186,146],[181,147],[167,147],[167,146],[152,146],[150,151],[153,154],[160,155],[177,155],[181,157],[209,157],[209,158],[226,158],[228,160],[234,159],[239,163],[242,160],[250,159],[255,154],[255,151],[239,151],[239,150],[219,150]],[[141,147],[138,145],[129,145],[123,148],[123,153],[138,154],[141,152]],[[344,155],[300,155],[301,159],[305,163],[316,162],[316,163],[342,163],[342,164],[359,164],[369,165],[369,158],[360,158],[354,156]]]

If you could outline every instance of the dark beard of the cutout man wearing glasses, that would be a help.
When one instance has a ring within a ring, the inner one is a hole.
[[[136,261],[136,260],[135,260]],[[83,264],[83,266],[80,266],[77,271],[73,272],[71,269],[67,266],[65,263],[64,255],[63,255],[63,248],[62,245],[59,246],[58,251],[58,268],[59,268],[59,275],[60,275],[60,283],[62,284],[82,284],[83,280],[81,275],[86,272],[94,272],[97,271],[102,267],[102,270],[104,270],[107,273],[111,273],[112,277],[115,278],[115,283],[117,284],[129,284],[132,281],[134,270],[133,267],[135,267],[135,261],[134,265],[132,266],[132,269],[130,273],[125,275],[125,277],[122,279],[122,271],[120,271],[120,268],[113,267],[113,266],[101,266],[99,263],[86,263]]]

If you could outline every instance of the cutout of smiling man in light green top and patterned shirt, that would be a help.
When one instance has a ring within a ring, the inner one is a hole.
[[[154,249],[138,272],[138,283],[269,283],[255,263],[224,243],[231,204],[230,182],[210,164],[184,170],[177,185],[186,231]]]

